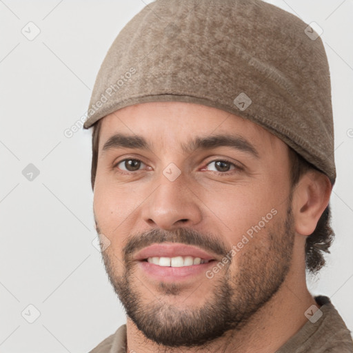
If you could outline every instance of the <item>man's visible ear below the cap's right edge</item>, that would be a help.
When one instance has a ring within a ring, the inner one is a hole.
[[[295,230],[301,235],[314,232],[321,214],[330,201],[332,185],[328,177],[316,170],[305,173],[294,188],[292,210]]]

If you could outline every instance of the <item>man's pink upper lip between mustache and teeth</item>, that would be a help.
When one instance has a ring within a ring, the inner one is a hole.
[[[216,256],[201,250],[196,246],[185,245],[180,243],[161,243],[153,244],[143,248],[134,256],[134,260],[145,260],[149,257],[176,257],[176,256],[192,256],[199,257],[203,260],[215,260]]]

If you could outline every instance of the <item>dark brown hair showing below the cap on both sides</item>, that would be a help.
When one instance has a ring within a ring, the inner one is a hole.
[[[92,132],[92,168],[91,185],[94,189],[94,181],[97,173],[99,132],[101,131],[101,121],[93,125]],[[300,154],[289,148],[290,175],[292,190],[298,185],[301,176],[309,170],[318,170],[314,165],[307,162]],[[329,248],[334,241],[334,231],[331,228],[330,205],[321,214],[316,228],[310,236],[307,236],[305,243],[305,264],[308,272],[316,274],[325,265],[324,252],[330,253]]]

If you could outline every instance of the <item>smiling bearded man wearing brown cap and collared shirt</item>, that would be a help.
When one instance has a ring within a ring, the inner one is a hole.
[[[336,179],[321,39],[259,0],[157,0],[99,71],[94,219],[127,323],[92,353],[353,352],[305,273]]]

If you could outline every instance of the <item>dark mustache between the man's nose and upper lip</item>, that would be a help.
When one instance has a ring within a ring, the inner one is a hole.
[[[123,254],[125,259],[130,259],[134,252],[138,252],[152,244],[165,242],[195,245],[206,252],[212,252],[222,257],[231,251],[223,241],[216,239],[216,237],[210,233],[200,234],[190,228],[178,228],[177,230],[161,230],[154,228],[148,232],[142,232],[130,237],[128,243],[123,248]]]

